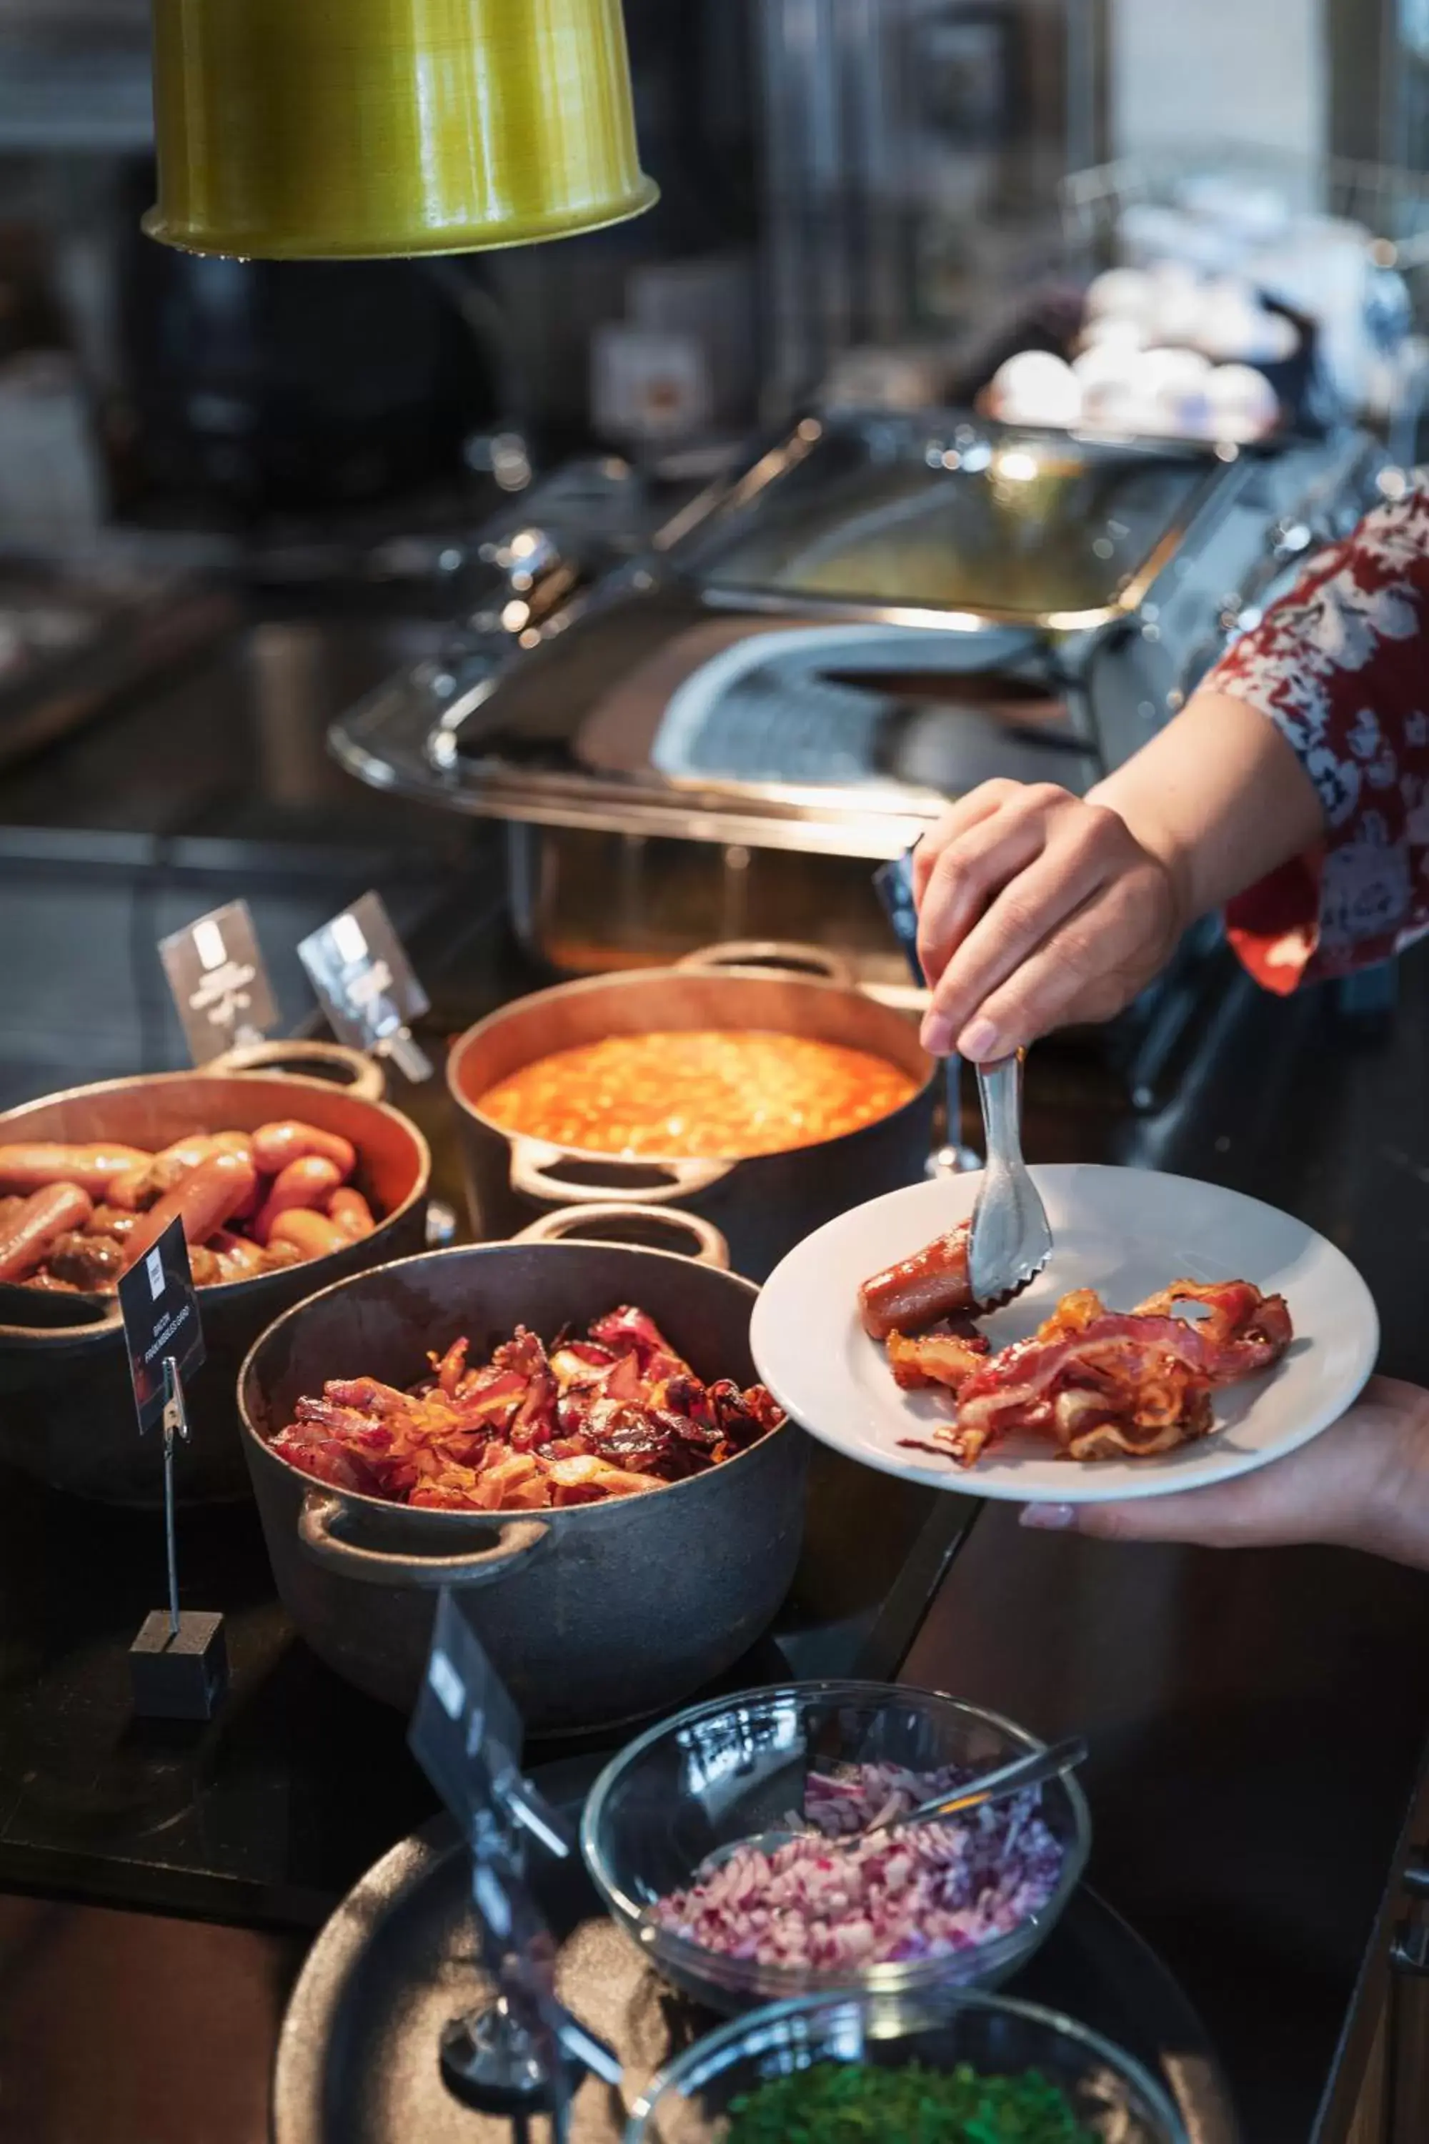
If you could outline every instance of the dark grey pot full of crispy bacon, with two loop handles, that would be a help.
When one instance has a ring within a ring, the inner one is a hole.
[[[754,1297],[668,1250],[518,1239],[405,1259],[279,1319],[242,1368],[244,1456],[313,1651],[409,1707],[437,1591],[473,1591],[544,1732],[643,1717],[731,1668],[803,1535],[808,1443],[754,1383]]]

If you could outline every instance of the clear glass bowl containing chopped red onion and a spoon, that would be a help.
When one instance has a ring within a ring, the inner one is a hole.
[[[1033,1734],[932,1689],[898,1683],[788,1683],[694,1704],[630,1743],[596,1780],[581,1848],[596,1889],[649,1962],[696,2002],[731,2013],[801,1994],[996,1987],[1026,1964],[1058,1921],[1090,1850],[1090,1816],[1075,1780],[1041,1788],[1041,1818],[1063,1844],[1056,1891],[1005,1936],[947,1957],[874,1966],[761,1964],[688,1942],[649,1917],[683,1891],[718,1846],[778,1829],[803,1807],[810,1771],[893,1762],[915,1771],[966,1765],[992,1771],[1041,1750]]]

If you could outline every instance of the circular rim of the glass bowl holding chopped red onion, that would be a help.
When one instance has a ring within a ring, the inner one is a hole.
[[[962,1713],[973,1722],[998,1728],[1003,1734],[1011,1737],[1011,1741],[1022,1743],[1028,1754],[1048,1747],[1048,1743],[1033,1734],[1031,1728],[1018,1726],[1016,1719],[1009,1719],[1005,1713],[994,1713],[986,1704],[973,1704],[971,1698],[953,1698],[945,1689],[928,1689],[921,1683],[878,1683],[855,1677],[814,1677],[801,1683],[763,1683],[754,1689],[737,1689],[726,1698],[705,1698],[701,1704],[688,1704],[683,1711],[671,1713],[668,1719],[653,1722],[653,1726],[647,1726],[634,1737],[634,1741],[626,1743],[626,1747],[619,1750],[600,1771],[585,1799],[585,1810],[581,1812],[581,1857],[589,1870],[591,1882],[600,1891],[606,1910],[615,1915],[617,1923],[628,1930],[647,1955],[660,1964],[668,1962],[673,1970],[688,1972],[705,1985],[731,1992],[752,1987],[754,1994],[765,1996],[767,2007],[771,2002],[803,1998],[833,2000],[840,1994],[848,1996],[866,1992],[878,1996],[900,1996],[923,1987],[956,1985],[956,1981],[949,1979],[953,1957],[977,1957],[979,1972],[990,1975],[1001,1966],[1011,1968],[1022,1960],[1028,1930],[1043,1930],[1046,1938],[1046,1934],[1056,1927],[1090,1857],[1090,1807],[1075,1773],[1065,1773],[1061,1780],[1061,1786],[1071,1803],[1073,1829],[1067,1840],[1067,1855],[1063,1859],[1052,1897],[1041,1912],[1028,1915],[1005,1936],[996,1936],[992,1942],[981,1942],[971,1953],[941,1957],[889,1957],[872,1966],[848,1968],[848,1972],[831,1970],[829,1975],[810,1975],[801,1966],[761,1966],[743,1957],[733,1960],[722,1951],[707,1951],[701,1942],[686,1942],[683,1936],[656,1927],[647,1919],[645,1906],[621,1891],[615,1874],[604,1865],[604,1857],[600,1852],[600,1818],[604,1816],[604,1807],[615,1786],[621,1775],[632,1771],[658,1741],[679,1728],[735,1711],[741,1704],[771,1704],[780,1698],[829,1702],[846,1698],[851,1702],[878,1702],[887,1707],[900,1700],[932,1700],[934,1704],[951,1707],[956,1713]]]

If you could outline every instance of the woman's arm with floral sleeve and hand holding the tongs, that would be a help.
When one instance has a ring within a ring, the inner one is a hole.
[[[1118,1012],[1230,903],[1273,991],[1429,930],[1429,495],[1324,551],[1088,800],[988,783],[919,849],[932,1051]]]

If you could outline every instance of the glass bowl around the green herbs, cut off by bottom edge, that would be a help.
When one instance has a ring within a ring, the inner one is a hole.
[[[913,1996],[803,1996],[752,2011],[696,2041],[636,2101],[626,2144],[707,2144],[728,2135],[733,2101],[812,2063],[872,2063],[1018,2075],[1035,2069],[1069,2099],[1099,2144],[1187,2144],[1163,2088],[1086,2026],[966,1990]],[[870,2131],[870,2144],[885,2144]]]

